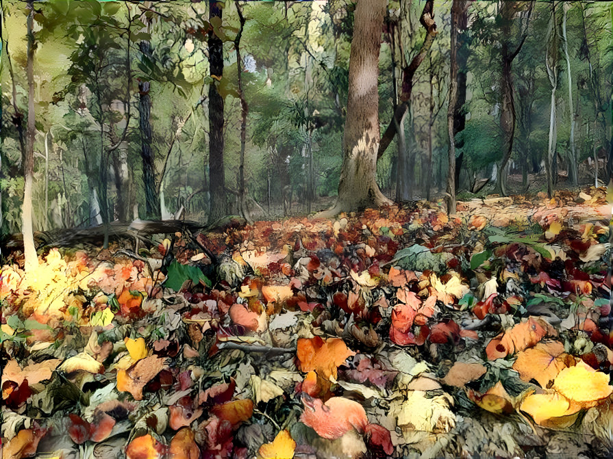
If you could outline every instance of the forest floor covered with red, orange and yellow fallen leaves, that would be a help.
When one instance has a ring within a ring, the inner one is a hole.
[[[3,458],[611,457],[610,217],[585,187],[14,252]]]

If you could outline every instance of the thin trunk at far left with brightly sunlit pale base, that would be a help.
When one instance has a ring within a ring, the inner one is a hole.
[[[25,270],[32,271],[38,266],[38,256],[34,246],[32,228],[32,181],[34,180],[34,137],[36,136],[36,118],[34,113],[34,1],[27,1],[27,147],[25,151],[23,173],[25,187],[23,192],[23,254]]]

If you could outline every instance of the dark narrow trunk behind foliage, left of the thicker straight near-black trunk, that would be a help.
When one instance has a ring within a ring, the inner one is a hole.
[[[149,42],[139,44],[142,53],[149,53]],[[145,185],[145,218],[160,220],[160,197],[155,187],[155,155],[151,148],[151,96],[149,81],[138,81],[138,112],[140,114],[140,157],[142,159],[142,181]]]

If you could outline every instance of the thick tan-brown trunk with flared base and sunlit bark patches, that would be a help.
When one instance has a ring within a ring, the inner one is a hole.
[[[349,55],[347,120],[336,205],[318,216],[391,204],[377,185],[379,51],[385,0],[358,0]]]

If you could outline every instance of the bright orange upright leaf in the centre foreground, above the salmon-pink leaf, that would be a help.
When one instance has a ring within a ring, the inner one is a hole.
[[[345,360],[355,356],[347,348],[347,345],[340,338],[329,338],[327,341],[321,337],[299,338],[298,350],[296,352],[300,360],[301,371],[316,371],[323,378],[337,376],[337,369],[345,363]]]

